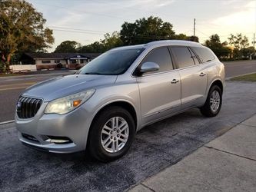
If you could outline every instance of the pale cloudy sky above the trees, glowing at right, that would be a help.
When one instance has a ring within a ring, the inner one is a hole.
[[[27,0],[42,12],[54,31],[55,44],[74,40],[88,45],[106,32],[120,31],[124,22],[158,16],[171,22],[175,32],[196,35],[201,43],[218,34],[222,41],[241,32],[251,42],[256,33],[256,0]]]

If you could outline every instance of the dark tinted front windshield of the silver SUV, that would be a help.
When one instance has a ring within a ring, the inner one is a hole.
[[[77,74],[123,74],[143,50],[144,48],[132,48],[108,51],[89,62]]]

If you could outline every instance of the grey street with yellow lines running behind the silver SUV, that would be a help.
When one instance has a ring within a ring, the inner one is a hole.
[[[256,72],[256,61],[234,61],[225,62],[226,77],[236,76]],[[61,74],[71,74],[73,72],[63,71],[43,71],[44,74],[35,74],[35,76],[8,77],[0,78],[0,123],[14,119],[15,104],[18,96],[28,86],[48,78],[54,78]],[[56,74],[52,74],[56,73]]]

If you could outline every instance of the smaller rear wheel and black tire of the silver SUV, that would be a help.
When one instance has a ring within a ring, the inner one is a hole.
[[[201,114],[208,118],[215,117],[221,110],[222,91],[218,85],[213,85],[208,93],[204,106],[200,108]]]

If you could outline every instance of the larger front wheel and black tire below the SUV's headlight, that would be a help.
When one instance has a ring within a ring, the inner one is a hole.
[[[135,121],[124,108],[101,111],[91,125],[88,148],[99,161],[115,161],[125,155],[135,137]]]

